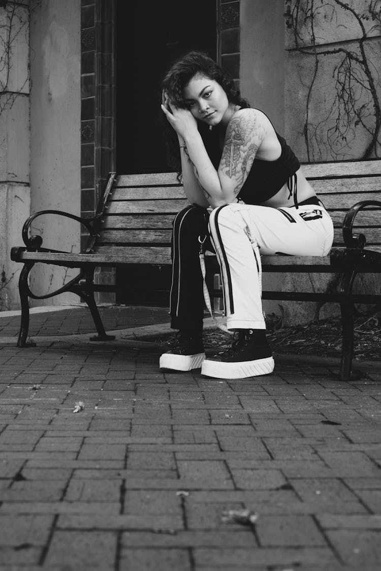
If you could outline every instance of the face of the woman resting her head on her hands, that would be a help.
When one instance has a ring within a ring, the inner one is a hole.
[[[187,107],[198,120],[214,126],[227,124],[231,118],[231,107],[226,93],[214,79],[197,74],[184,88]]]

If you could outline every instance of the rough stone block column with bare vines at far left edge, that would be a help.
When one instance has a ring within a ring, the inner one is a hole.
[[[29,1],[0,6],[0,310],[18,309],[21,246],[30,215]]]

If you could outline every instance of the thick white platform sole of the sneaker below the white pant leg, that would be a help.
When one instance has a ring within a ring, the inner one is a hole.
[[[256,359],[242,363],[221,363],[205,359],[202,363],[201,374],[215,379],[246,379],[259,375],[268,375],[274,371],[274,359]]]

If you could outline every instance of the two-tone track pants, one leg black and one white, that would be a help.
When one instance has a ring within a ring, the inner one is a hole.
[[[207,228],[208,220],[208,228]],[[228,329],[265,329],[260,267],[254,255],[325,256],[334,235],[322,205],[272,208],[232,203],[208,212],[189,206],[179,212],[173,231],[171,327],[198,329],[203,316],[198,236],[210,234],[223,282]],[[210,246],[207,246],[211,250]]]

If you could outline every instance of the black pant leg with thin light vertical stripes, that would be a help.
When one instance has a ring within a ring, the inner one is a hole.
[[[208,236],[209,213],[199,206],[188,206],[173,223],[171,327],[202,331],[204,312],[203,280],[199,260],[199,236]]]

